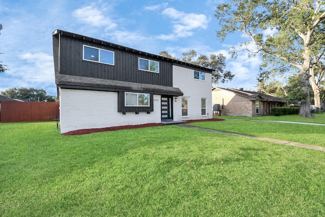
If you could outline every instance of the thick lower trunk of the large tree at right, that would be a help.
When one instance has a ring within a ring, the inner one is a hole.
[[[304,98],[300,105],[299,116],[312,118],[313,116],[310,113],[309,77],[309,73],[305,70],[302,70],[300,74],[300,86],[304,91]]]

